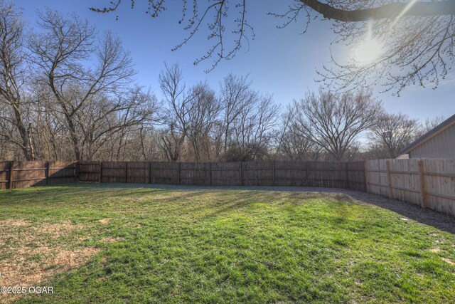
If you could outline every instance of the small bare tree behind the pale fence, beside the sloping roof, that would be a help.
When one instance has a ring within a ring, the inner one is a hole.
[[[414,140],[418,129],[419,122],[402,113],[382,115],[370,132],[370,149],[377,150],[374,157],[400,156],[401,150]]]

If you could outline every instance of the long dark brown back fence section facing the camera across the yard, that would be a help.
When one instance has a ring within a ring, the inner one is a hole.
[[[365,162],[79,162],[79,180],[365,191]]]

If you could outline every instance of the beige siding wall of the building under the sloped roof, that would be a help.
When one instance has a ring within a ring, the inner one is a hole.
[[[455,158],[455,124],[417,146],[410,158]]]

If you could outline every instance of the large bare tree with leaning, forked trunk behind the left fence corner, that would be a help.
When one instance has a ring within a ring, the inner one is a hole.
[[[68,124],[75,158],[82,159],[75,117],[100,94],[114,93],[131,82],[132,60],[118,38],[105,32],[95,43],[96,32],[78,16],[63,17],[46,9],[39,14],[42,33],[29,41],[41,81],[49,85]],[[95,68],[85,65],[95,61]]]

